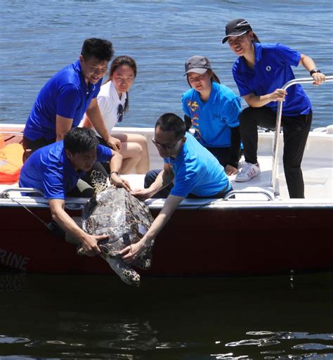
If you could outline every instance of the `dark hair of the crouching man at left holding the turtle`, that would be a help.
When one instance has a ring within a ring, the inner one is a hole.
[[[64,138],[64,148],[73,155],[86,153],[98,146],[98,139],[93,130],[87,127],[74,127]]]

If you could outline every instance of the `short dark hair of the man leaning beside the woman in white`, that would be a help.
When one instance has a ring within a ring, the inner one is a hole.
[[[100,61],[110,61],[113,54],[112,42],[105,39],[97,39],[96,37],[84,40],[81,49],[81,56],[84,57],[84,60],[94,57]]]

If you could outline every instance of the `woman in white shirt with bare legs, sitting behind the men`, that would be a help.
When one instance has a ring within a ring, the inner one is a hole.
[[[100,87],[98,106],[109,134],[117,122],[122,122],[129,108],[129,89],[136,78],[136,62],[129,56],[118,56],[112,61],[109,79]],[[87,114],[82,122],[84,127],[92,127]],[[93,129],[95,132],[96,130]],[[97,133],[96,133],[97,134]],[[115,148],[120,148],[123,157],[122,174],[136,169],[137,174],[149,170],[148,146],[145,136],[139,134],[112,134]],[[102,145],[105,141],[98,136]]]

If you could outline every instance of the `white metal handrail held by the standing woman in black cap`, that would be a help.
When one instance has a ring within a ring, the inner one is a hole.
[[[333,76],[327,76],[325,82],[333,82]],[[289,86],[295,84],[313,84],[312,77],[306,77],[301,79],[294,79],[287,82],[282,86],[282,89],[285,90]],[[325,84],[325,83],[323,83]],[[270,186],[273,188],[273,193],[275,193],[275,183],[276,183],[276,172],[278,168],[278,158],[280,150],[280,129],[281,129],[281,118],[282,118],[282,106],[283,101],[278,101],[278,110],[276,112],[276,126],[275,126],[275,138],[274,138],[274,148],[273,148],[273,163],[272,163],[272,175],[270,177]]]

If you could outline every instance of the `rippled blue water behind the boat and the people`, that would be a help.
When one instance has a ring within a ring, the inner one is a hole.
[[[136,60],[124,127],[153,127],[163,113],[183,117],[184,64],[193,55],[207,56],[238,94],[231,73],[236,56],[221,44],[233,18],[246,18],[261,42],[290,46],[333,75],[330,0],[1,0],[0,17],[0,123],[24,124],[41,86],[78,59],[88,37],[109,39],[115,56]],[[302,66],[294,72],[309,77]],[[313,128],[332,124],[332,82],[303,86],[313,103]]]

